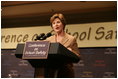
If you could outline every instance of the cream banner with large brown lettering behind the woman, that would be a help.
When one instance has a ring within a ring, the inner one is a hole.
[[[23,28],[3,28],[2,49],[15,49],[18,43],[34,41],[37,35],[48,33],[51,26],[32,26]],[[65,32],[77,39],[78,47],[116,47],[117,22],[69,24]]]

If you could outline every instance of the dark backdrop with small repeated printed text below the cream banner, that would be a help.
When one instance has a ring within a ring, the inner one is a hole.
[[[1,50],[1,77],[33,78],[34,68],[15,57],[16,50]],[[82,60],[74,64],[76,78],[116,78],[117,48],[80,48]]]

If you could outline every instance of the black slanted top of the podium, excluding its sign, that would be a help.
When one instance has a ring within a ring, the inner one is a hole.
[[[25,44],[18,44],[15,56],[22,58]],[[26,59],[34,68],[58,66],[63,63],[77,63],[80,58],[60,43],[50,43],[47,59]]]

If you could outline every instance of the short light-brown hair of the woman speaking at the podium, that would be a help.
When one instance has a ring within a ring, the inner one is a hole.
[[[59,18],[62,22],[62,24],[64,25],[64,29],[65,29],[65,26],[66,26],[66,20],[64,18],[64,15],[61,14],[61,13],[56,13],[54,14],[51,18],[50,18],[50,24],[52,26],[52,22],[56,19],[56,18]]]

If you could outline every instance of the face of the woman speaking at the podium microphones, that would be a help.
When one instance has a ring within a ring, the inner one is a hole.
[[[61,20],[59,18],[56,18],[53,22],[52,22],[52,28],[56,33],[61,33],[64,28],[64,25],[62,24]]]

